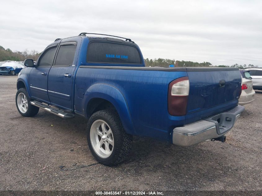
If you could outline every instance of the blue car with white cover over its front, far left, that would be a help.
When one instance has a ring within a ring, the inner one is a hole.
[[[23,68],[24,65],[21,64],[22,62],[16,61],[2,61],[0,62],[0,75],[7,75],[10,74],[15,76],[18,74]]]

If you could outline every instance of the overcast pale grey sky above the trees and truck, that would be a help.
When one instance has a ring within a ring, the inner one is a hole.
[[[44,50],[81,32],[131,38],[144,58],[262,67],[262,1],[1,1],[0,46]]]

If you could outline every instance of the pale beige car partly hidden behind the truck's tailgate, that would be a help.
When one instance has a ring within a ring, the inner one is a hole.
[[[238,104],[243,106],[255,100],[255,91],[253,90],[252,77],[249,70],[239,69],[242,75],[242,92]]]

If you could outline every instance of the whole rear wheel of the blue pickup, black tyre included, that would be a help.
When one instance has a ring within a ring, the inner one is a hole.
[[[132,136],[125,132],[117,111],[100,110],[88,120],[87,142],[97,161],[116,165],[129,154]]]

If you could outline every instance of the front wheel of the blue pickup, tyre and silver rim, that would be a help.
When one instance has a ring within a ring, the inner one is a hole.
[[[32,99],[29,98],[25,88],[18,89],[16,92],[16,107],[22,116],[34,116],[38,113],[39,107],[30,104]]]

